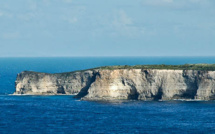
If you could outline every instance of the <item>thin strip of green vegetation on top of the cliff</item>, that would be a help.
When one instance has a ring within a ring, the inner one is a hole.
[[[135,65],[135,66],[103,66],[94,69],[169,69],[169,70],[201,70],[215,71],[215,64],[185,64],[185,65]]]

